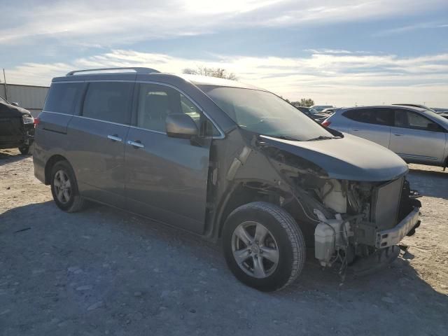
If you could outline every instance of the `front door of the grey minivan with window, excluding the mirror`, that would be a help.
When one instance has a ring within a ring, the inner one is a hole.
[[[202,234],[211,139],[168,137],[165,118],[186,113],[200,127],[204,116],[172,87],[140,83],[137,91],[135,126],[125,149],[128,209]]]

